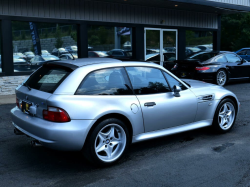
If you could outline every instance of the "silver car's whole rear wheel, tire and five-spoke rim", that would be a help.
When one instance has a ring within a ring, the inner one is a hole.
[[[130,143],[130,134],[123,121],[109,118],[90,132],[82,153],[95,165],[109,166],[122,158]]]

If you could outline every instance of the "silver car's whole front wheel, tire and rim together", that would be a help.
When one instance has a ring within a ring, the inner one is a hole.
[[[213,129],[218,133],[230,131],[234,126],[236,115],[235,103],[229,98],[223,99],[215,111]]]

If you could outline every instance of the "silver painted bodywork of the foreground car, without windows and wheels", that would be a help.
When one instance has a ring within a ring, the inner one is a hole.
[[[86,59],[84,59],[84,61],[86,61]],[[74,61],[70,62],[74,63]],[[11,110],[11,117],[15,124],[14,126],[25,134],[40,140],[44,146],[60,150],[80,150],[84,145],[89,130],[96,120],[107,114],[115,113],[125,116],[132,125],[133,142],[137,142],[211,125],[214,112],[221,99],[225,97],[230,96],[235,98],[239,106],[237,97],[225,88],[201,81],[186,79],[184,81],[191,85],[189,88],[185,82],[157,64],[121,61],[86,66],[83,66],[83,64],[84,63],[77,61],[75,65],[82,67],[74,70],[53,94],[34,89],[29,91],[27,87],[19,86],[16,89],[18,99],[25,100],[25,97],[28,96],[29,101],[39,105],[36,109],[37,113],[35,117],[24,114],[17,107],[13,108]],[[81,81],[88,73],[97,69],[125,66],[159,68],[175,77],[188,89],[181,91],[180,97],[174,97],[173,92],[154,94],[151,98],[149,95],[74,95]],[[185,92],[188,94],[185,94]],[[200,102],[198,98],[208,94],[214,95],[213,100]],[[167,107],[165,108],[162,101],[166,98],[171,99],[171,101],[166,100]],[[145,102],[156,102],[156,105],[145,107]],[[184,102],[189,107],[184,106],[184,108],[181,108]],[[131,110],[132,104],[136,104],[139,107],[136,113],[133,113]],[[63,108],[68,112],[71,121],[67,123],[54,123],[42,119],[42,111],[46,109],[47,106]],[[154,111],[154,109],[158,110]],[[159,117],[158,114],[164,114],[165,111],[168,117],[164,118],[164,115],[160,115]],[[186,116],[186,119],[182,120],[180,115]],[[177,121],[174,121],[176,119]],[[174,125],[176,126],[174,127]],[[48,143],[48,141],[52,142]]]

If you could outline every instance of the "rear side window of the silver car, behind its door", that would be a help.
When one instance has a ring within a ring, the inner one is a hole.
[[[76,95],[132,95],[124,68],[109,68],[91,72],[84,78]]]

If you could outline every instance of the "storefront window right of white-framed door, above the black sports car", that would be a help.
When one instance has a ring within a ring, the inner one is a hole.
[[[186,57],[213,50],[212,31],[186,31]]]

